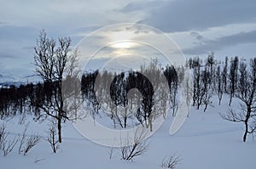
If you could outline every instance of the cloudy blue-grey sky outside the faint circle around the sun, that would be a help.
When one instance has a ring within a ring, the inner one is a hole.
[[[121,23],[162,31],[186,57],[206,57],[211,51],[218,59],[256,56],[254,0],[0,0],[0,4],[0,74],[34,73],[33,48],[43,29],[49,37],[71,37],[75,47],[91,32]],[[95,43],[101,38],[94,38]]]

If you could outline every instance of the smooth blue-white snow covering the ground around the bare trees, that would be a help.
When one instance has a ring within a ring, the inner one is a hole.
[[[1,168],[122,168],[122,169],[156,169],[166,155],[179,155],[182,161],[178,169],[253,169],[256,167],[256,141],[251,135],[247,143],[242,142],[243,126],[241,123],[224,121],[219,113],[228,109],[228,97],[225,96],[219,106],[217,98],[214,106],[206,112],[191,108],[189,118],[183,127],[170,135],[172,116],[169,115],[160,129],[149,138],[148,151],[134,161],[120,160],[119,149],[115,149],[113,158],[109,159],[109,148],[94,144],[77,132],[71,122],[63,124],[63,143],[54,154],[49,144],[41,140],[27,155],[18,155],[18,146],[7,156],[0,155]],[[234,101],[232,108],[237,108]],[[20,117],[0,121],[4,122],[11,136],[21,133],[29,122],[27,133],[38,132],[46,137],[47,121],[32,121],[26,116],[24,124],[18,124]]]

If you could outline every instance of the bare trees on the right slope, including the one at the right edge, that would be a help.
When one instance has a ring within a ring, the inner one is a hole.
[[[256,131],[256,59],[248,60],[235,58],[225,58],[224,62],[218,62],[213,54],[209,54],[207,60],[199,58],[189,59],[189,67],[194,73],[193,105],[197,109],[202,104],[212,103],[212,94],[218,96],[218,104],[224,94],[229,95],[229,106],[234,98],[239,100],[240,109],[229,109],[222,112],[221,116],[228,121],[242,122],[245,126],[243,141],[246,142],[247,134]]]

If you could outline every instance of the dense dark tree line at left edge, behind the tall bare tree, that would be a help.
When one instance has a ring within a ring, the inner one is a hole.
[[[48,82],[29,83],[0,88],[0,118],[11,115],[31,114],[38,118],[40,105],[52,97]]]

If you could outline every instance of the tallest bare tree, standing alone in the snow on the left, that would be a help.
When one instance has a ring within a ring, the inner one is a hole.
[[[49,84],[49,91],[53,91],[53,98],[43,105],[37,104],[44,111],[41,116],[51,116],[57,121],[58,139],[61,143],[61,122],[68,119],[64,110],[64,99],[62,95],[62,81],[65,76],[65,68],[69,61],[70,38],[60,37],[56,42],[48,38],[45,31],[41,31],[35,49],[34,63],[36,71],[44,82]]]

